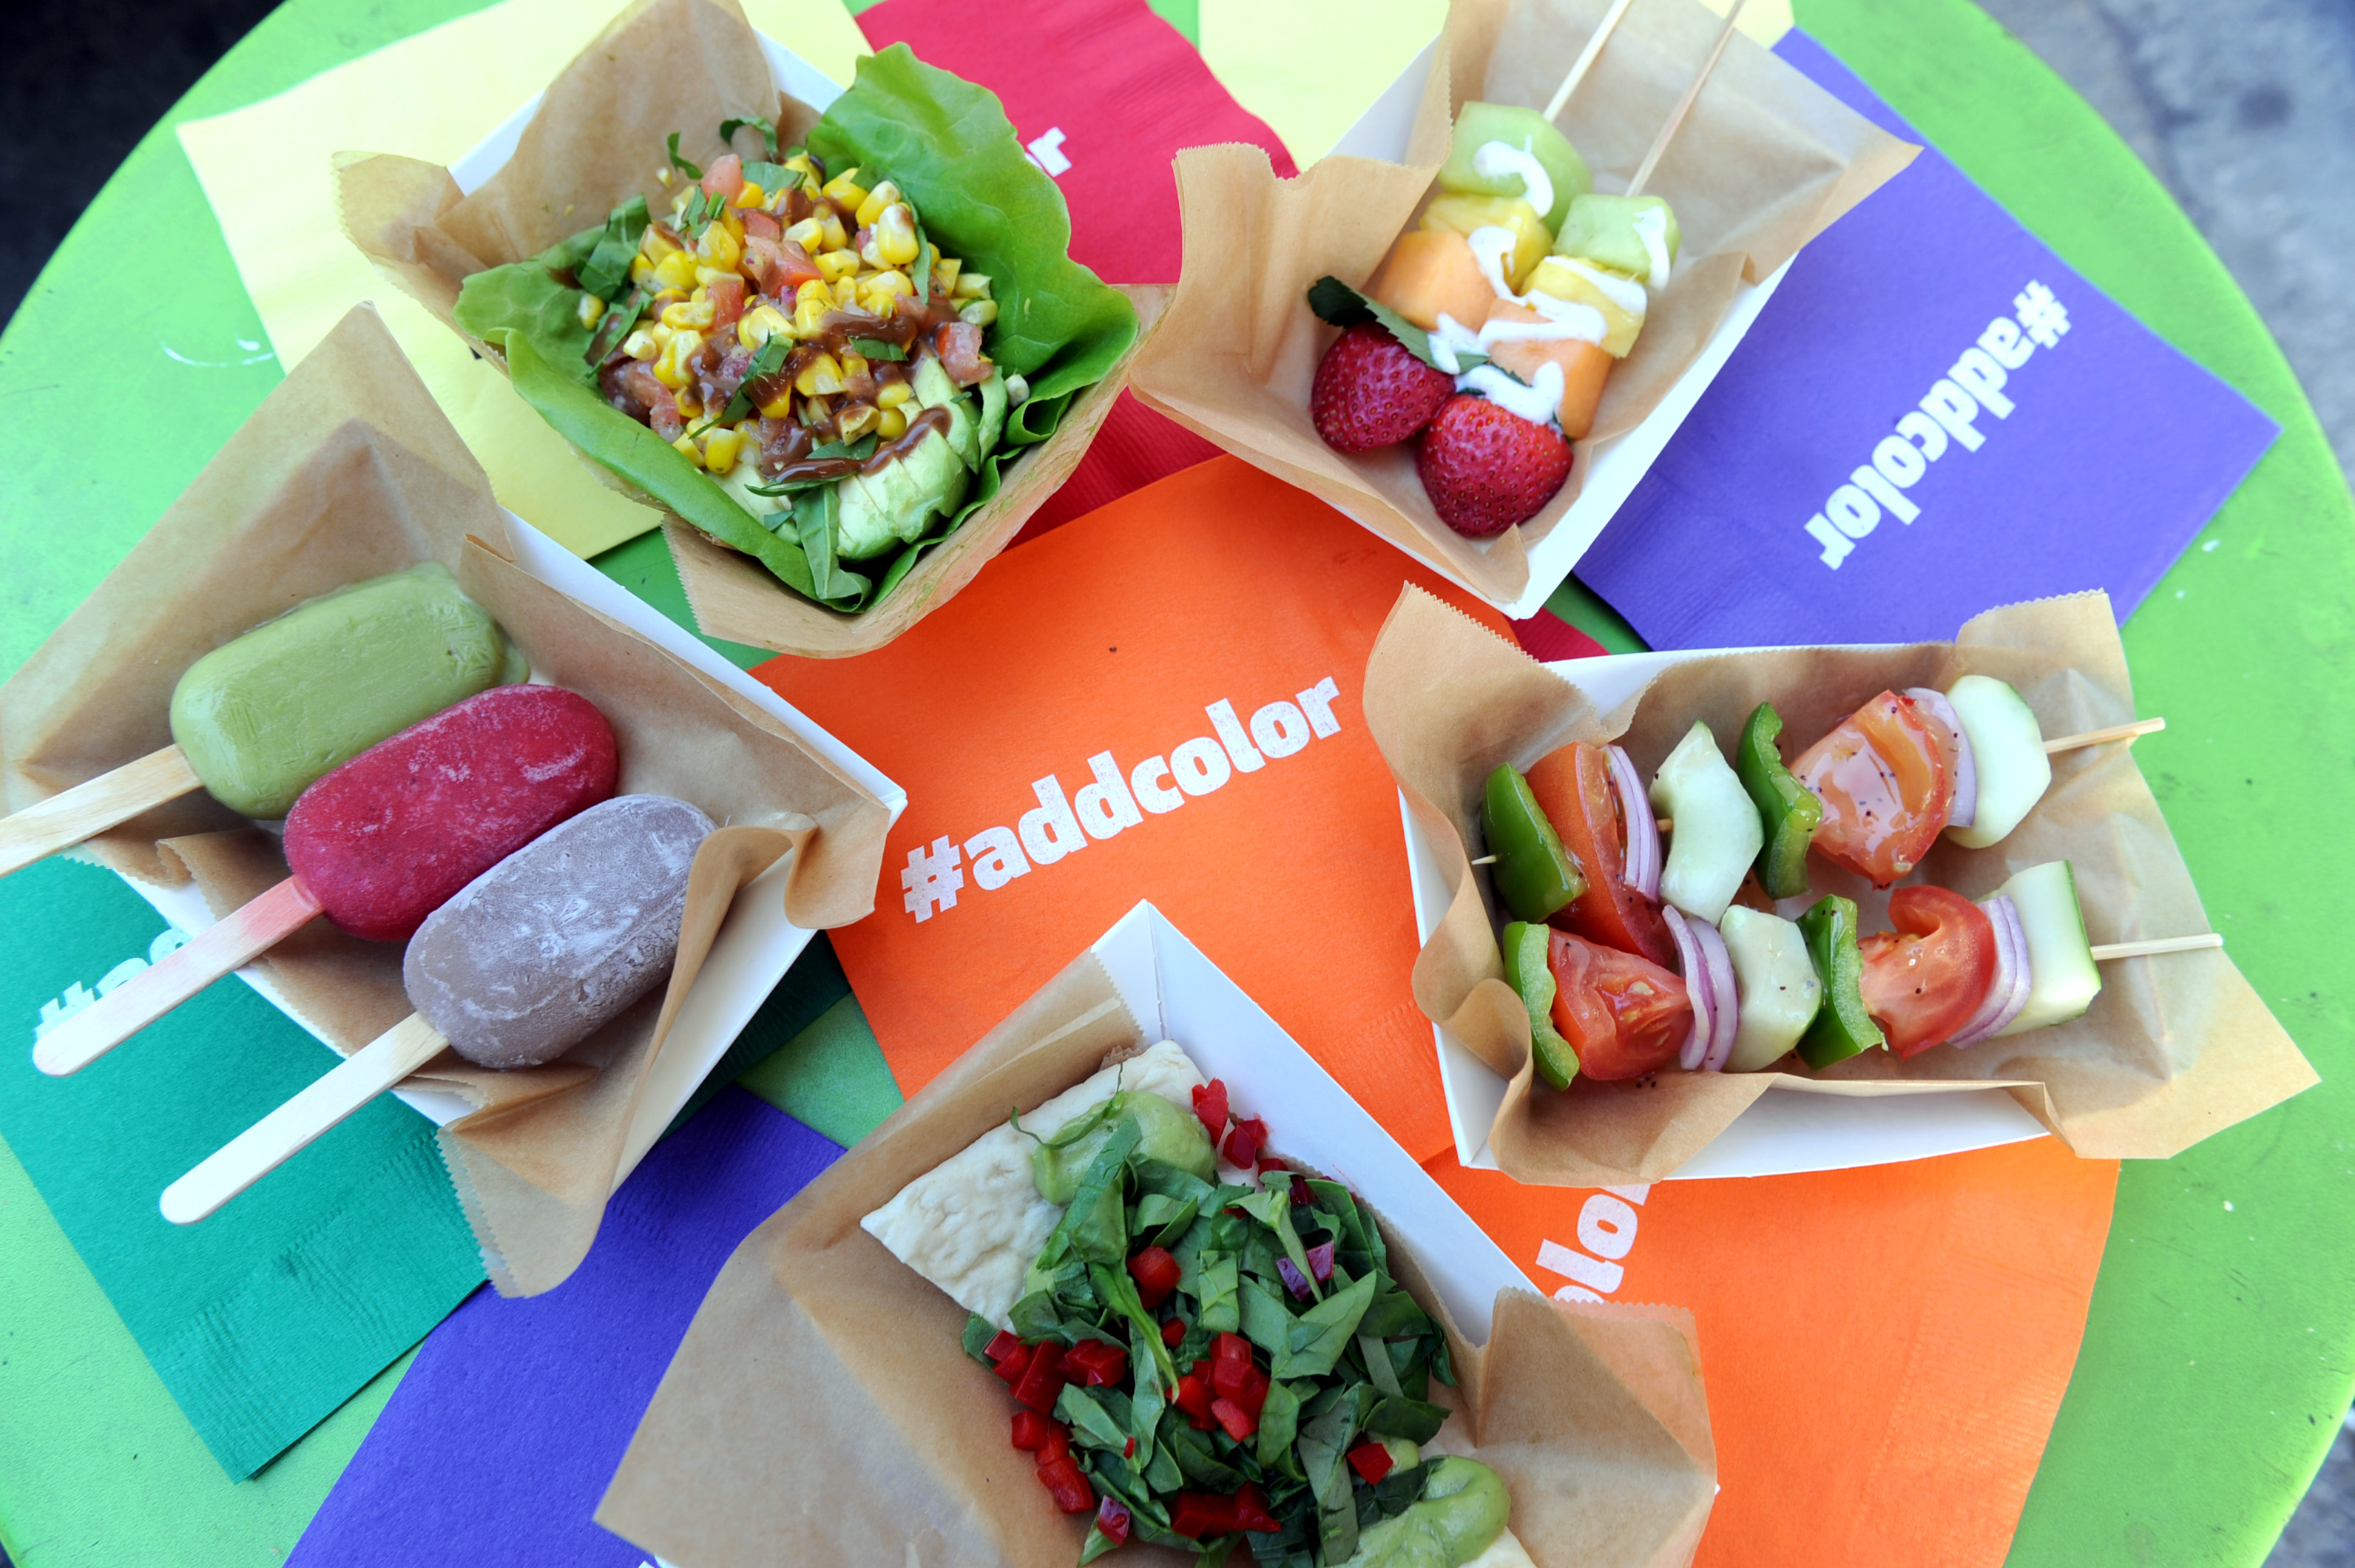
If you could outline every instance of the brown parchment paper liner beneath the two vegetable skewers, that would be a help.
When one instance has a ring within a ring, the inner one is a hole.
[[[2167,1158],[2317,1083],[2315,1069],[2223,951],[2101,965],[2094,1008],[2068,1024],[1969,1050],[1896,1059],[1868,1050],[1823,1074],[1665,1071],[1656,1085],[1533,1081],[1528,1012],[1505,984],[1488,878],[1474,876],[1481,784],[1498,763],[1528,768],[1573,739],[1618,739],[1648,779],[1693,720],[1733,756],[1759,702],[1783,716],[1785,749],[1813,744],[1875,692],[2009,680],[2044,735],[2134,718],[2134,687],[2105,593],[2046,598],[1973,617],[1952,643],[1729,652],[1660,671],[1613,713],[1437,598],[1406,589],[1366,662],[1366,725],[1439,857],[1453,902],[1415,958],[1415,1003],[1510,1085],[1488,1130],[1498,1165],[1554,1187],[1667,1177],[1776,1083],[1846,1095],[2004,1088],[2089,1158]],[[2023,866],[2068,859],[2096,944],[2209,930],[2174,833],[2134,749],[2054,756],[2044,800],[2009,838],[1964,850],[1941,838],[1919,878],[1973,899]],[[1889,895],[1823,857],[1813,892],[1858,902],[1886,928]]]

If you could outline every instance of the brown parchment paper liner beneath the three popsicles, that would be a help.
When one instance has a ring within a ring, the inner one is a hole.
[[[443,1128],[443,1156],[492,1283],[535,1295],[596,1236],[645,1074],[737,888],[796,850],[791,921],[857,921],[874,909],[888,812],[777,720],[516,567],[506,539],[483,471],[360,306],[0,687],[0,791],[19,810],[167,746],[172,685],[200,655],[424,560],[457,574],[537,678],[596,702],[622,746],[622,793],[681,796],[725,824],[695,859],[671,986],[549,1067],[490,1071],[443,1052],[410,1081],[480,1107]],[[148,883],[193,881],[214,913],[287,876],[276,836],[205,793],[82,852]],[[261,963],[349,1055],[410,1015],[400,954],[313,921]]]

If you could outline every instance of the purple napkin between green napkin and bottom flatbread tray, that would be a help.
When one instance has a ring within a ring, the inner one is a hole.
[[[591,1523],[704,1290],[841,1149],[728,1088],[622,1184],[549,1295],[436,1328],[290,1559],[297,1568],[638,1568]]]

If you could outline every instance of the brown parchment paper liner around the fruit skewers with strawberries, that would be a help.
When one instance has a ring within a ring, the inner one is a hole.
[[[1743,283],[1759,283],[1905,167],[1912,148],[1736,35],[1670,141],[1648,191],[1677,210],[1684,245],[1634,351],[1611,370],[1594,431],[1561,492],[1528,523],[1472,542],[1439,520],[1413,443],[1342,457],[1309,424],[1309,381],[1338,334],[1307,290],[1364,285],[1411,226],[1470,99],[1543,108],[1606,0],[1455,0],[1432,54],[1408,162],[1324,158],[1276,179],[1260,148],[1178,155],[1185,271],[1137,398],[1276,478],[1309,490],[1493,603],[1528,589],[1528,549],[1578,499],[1594,452],[1639,426],[1700,358]],[[1601,191],[1625,191],[1684,94],[1719,19],[1691,0],[1627,12],[1557,125]]]

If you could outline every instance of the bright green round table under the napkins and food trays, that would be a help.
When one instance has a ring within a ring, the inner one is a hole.
[[[280,377],[172,127],[469,9],[287,0],[75,224],[0,334],[0,669],[97,586]],[[1797,0],[1797,21],[2091,283],[2282,424],[2136,612],[2127,652],[2141,711],[2169,720],[2138,758],[2214,928],[2324,1083],[2174,1161],[2127,1163],[2084,1349],[2011,1552],[2023,1568],[2258,1563],[2355,1380],[2355,1003],[2334,979],[2348,972],[2336,892],[2355,885],[2355,831],[2339,817],[2355,784],[2355,504],[2256,311],[2028,49],[1964,0]],[[652,537],[598,565],[683,619]],[[1554,610],[1616,650],[1637,645],[1575,582]],[[5,1151],[0,1253],[0,1281],[42,1276],[38,1321],[16,1318],[21,1295],[16,1311],[0,1307],[0,1361],[73,1358],[82,1377],[153,1382]],[[12,1502],[71,1469],[104,1497],[106,1535],[85,1554],[57,1537],[59,1563],[283,1561],[398,1373],[238,1486],[160,1384],[137,1406],[151,1410],[139,1429],[108,1427],[104,1443],[0,1417],[0,1530]]]

